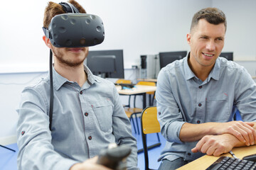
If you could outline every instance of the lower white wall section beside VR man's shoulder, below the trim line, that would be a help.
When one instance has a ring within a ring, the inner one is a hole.
[[[0,74],[0,144],[16,142],[18,103],[25,86],[38,80],[46,73]]]

